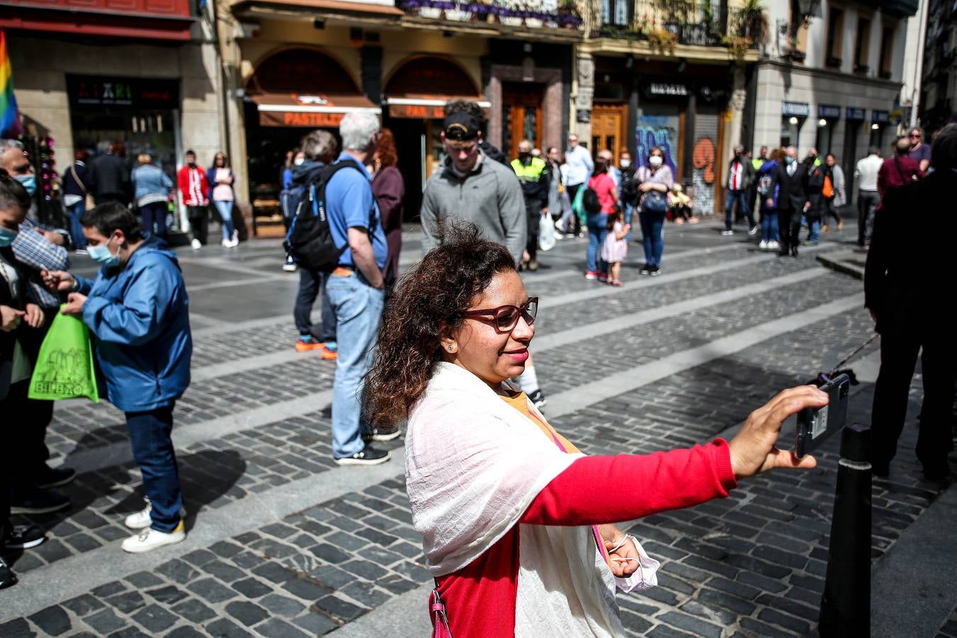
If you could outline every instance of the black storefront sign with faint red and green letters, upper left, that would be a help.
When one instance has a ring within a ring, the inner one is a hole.
[[[179,81],[149,77],[67,76],[71,108],[179,108]]]

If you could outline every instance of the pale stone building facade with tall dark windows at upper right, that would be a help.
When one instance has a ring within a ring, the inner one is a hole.
[[[857,160],[869,146],[886,154],[896,139],[907,23],[917,10],[917,0],[770,3],[771,37],[749,86],[752,145],[834,153],[853,193]]]

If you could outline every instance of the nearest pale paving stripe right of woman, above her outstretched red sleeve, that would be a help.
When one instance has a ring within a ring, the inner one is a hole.
[[[578,385],[570,390],[548,397],[546,413],[549,418],[562,416],[583,407],[611,399],[614,396],[678,374],[684,370],[722,359],[747,347],[773,339],[779,335],[798,330],[806,325],[822,319],[848,312],[864,305],[863,294],[836,299],[804,312],[795,313],[781,319],[774,319],[767,323],[749,326],[746,330],[728,337],[705,343],[697,348],[689,348],[676,352],[673,355],[659,359],[656,362],[635,365],[629,370],[616,372],[612,375],[592,381],[589,384]]]

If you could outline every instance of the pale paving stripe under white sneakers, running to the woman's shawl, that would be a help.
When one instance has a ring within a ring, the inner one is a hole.
[[[50,605],[69,600],[117,579],[116,563],[126,574],[150,571],[164,562],[268,525],[350,492],[362,491],[403,475],[403,458],[393,454],[387,463],[368,468],[333,468],[286,483],[268,492],[251,494],[218,509],[202,510],[184,542],[145,554],[125,554],[120,540],[84,554],[56,561],[20,576],[20,585],[3,592],[0,623],[28,616]],[[132,534],[132,532],[130,533]],[[82,574],[82,578],[76,575]]]

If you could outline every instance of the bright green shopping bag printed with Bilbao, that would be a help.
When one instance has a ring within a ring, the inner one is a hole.
[[[100,402],[90,331],[80,319],[56,313],[33,366],[29,396],[49,401],[88,397]]]

